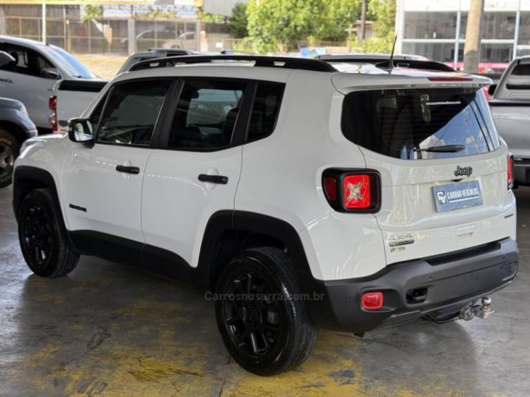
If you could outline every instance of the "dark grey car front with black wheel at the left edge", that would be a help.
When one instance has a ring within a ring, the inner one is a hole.
[[[14,61],[7,52],[0,51],[0,66]],[[0,98],[0,187],[11,184],[14,161],[26,139],[37,135],[37,128],[28,117],[21,101]]]

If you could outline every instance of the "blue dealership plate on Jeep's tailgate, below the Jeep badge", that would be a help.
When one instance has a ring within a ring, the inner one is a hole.
[[[478,181],[433,186],[433,194],[438,212],[482,205]]]

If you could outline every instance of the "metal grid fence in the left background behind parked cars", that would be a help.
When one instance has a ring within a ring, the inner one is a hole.
[[[8,11],[1,11],[0,34],[42,39],[42,19],[37,9],[8,8]],[[47,12],[46,41],[74,54],[129,54],[153,47],[200,48],[199,22],[195,19],[121,17],[83,20],[79,18],[79,11],[71,12],[66,8],[62,12],[59,9],[51,11]]]

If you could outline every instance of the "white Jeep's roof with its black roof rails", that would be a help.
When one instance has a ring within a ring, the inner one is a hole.
[[[419,61],[417,61],[419,62]],[[429,61],[427,61],[429,62]],[[242,79],[263,79],[286,81],[294,73],[312,73],[311,78],[329,79],[335,87],[376,85],[451,85],[482,86],[491,84],[491,80],[454,71],[420,70],[398,67],[384,68],[372,64],[333,63],[319,59],[288,57],[262,57],[248,55],[210,55],[167,57],[141,61],[125,74],[123,79],[134,77],[169,76],[217,76]],[[306,79],[306,77],[304,77]],[[367,79],[371,79],[368,82]]]

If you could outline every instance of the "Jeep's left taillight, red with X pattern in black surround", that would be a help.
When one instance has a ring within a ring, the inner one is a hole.
[[[377,212],[381,206],[379,173],[373,170],[329,169],[322,185],[328,203],[340,212]]]

